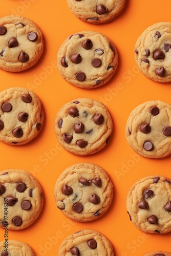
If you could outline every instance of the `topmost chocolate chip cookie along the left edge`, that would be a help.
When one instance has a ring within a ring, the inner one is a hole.
[[[0,18],[0,69],[24,71],[35,65],[43,50],[42,33],[32,20],[17,15]]]

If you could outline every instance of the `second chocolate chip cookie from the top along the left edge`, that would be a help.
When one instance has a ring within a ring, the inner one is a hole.
[[[0,93],[0,141],[22,145],[40,132],[44,110],[36,94],[25,88],[9,88]]]

